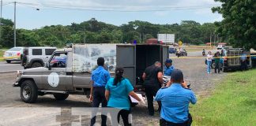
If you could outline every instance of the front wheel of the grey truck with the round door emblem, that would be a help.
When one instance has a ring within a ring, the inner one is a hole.
[[[36,102],[38,90],[36,84],[32,80],[25,80],[21,83],[21,99],[23,102]]]

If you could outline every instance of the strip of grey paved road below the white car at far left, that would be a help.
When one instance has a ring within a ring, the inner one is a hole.
[[[0,72],[11,72],[21,70],[20,62],[12,62],[10,64],[6,63],[6,61],[0,61]]]

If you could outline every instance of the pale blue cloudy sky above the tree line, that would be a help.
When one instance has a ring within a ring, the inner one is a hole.
[[[2,17],[14,20],[13,0],[2,0]],[[180,24],[195,20],[201,24],[222,20],[212,13],[214,0],[16,0],[17,28],[35,29],[46,25],[70,25],[91,18],[107,24],[143,20],[152,24]],[[37,10],[40,9],[40,10]]]

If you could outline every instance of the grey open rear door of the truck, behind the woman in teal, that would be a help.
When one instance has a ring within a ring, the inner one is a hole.
[[[136,84],[136,51],[134,45],[116,45],[116,67],[122,67],[124,77]]]

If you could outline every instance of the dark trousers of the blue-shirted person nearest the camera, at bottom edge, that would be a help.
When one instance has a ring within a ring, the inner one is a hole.
[[[186,120],[184,123],[172,123],[164,119],[160,119],[160,126],[190,126],[192,124],[192,117],[189,113],[188,120]]]

